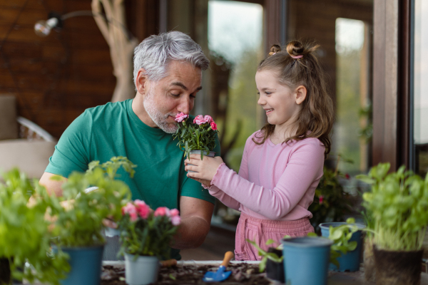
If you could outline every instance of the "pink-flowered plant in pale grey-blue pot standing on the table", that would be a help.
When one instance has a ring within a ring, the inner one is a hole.
[[[158,278],[160,259],[170,257],[170,244],[180,225],[178,209],[148,205],[135,200],[122,209],[119,221],[121,254],[125,255],[126,283],[150,284]]]

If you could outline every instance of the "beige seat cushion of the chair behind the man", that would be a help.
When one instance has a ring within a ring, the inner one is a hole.
[[[19,167],[29,178],[40,179],[55,145],[56,142],[46,140],[0,140],[0,171]]]

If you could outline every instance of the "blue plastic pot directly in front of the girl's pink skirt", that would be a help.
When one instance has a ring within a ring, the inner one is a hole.
[[[285,283],[326,285],[332,244],[324,237],[282,239]]]

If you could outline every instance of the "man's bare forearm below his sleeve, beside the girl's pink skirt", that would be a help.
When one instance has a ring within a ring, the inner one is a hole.
[[[180,197],[181,224],[174,237],[174,249],[200,247],[210,230],[214,204],[203,199]]]

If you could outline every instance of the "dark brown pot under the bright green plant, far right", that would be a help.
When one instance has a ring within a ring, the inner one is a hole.
[[[377,285],[420,284],[424,250],[393,252],[373,246]]]

